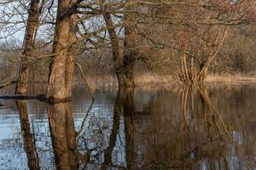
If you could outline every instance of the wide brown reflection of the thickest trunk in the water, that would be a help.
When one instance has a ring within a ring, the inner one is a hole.
[[[71,103],[48,105],[50,136],[57,169],[79,169]]]

